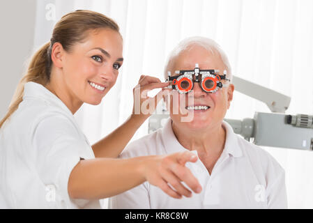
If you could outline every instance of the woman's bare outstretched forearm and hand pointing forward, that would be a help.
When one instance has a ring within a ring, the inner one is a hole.
[[[201,191],[201,185],[185,162],[196,162],[193,153],[135,157],[125,160],[96,158],[80,160],[72,169],[68,180],[68,194],[72,199],[104,199],[130,190],[144,181],[160,187],[174,198],[191,197],[191,192]],[[173,188],[169,187],[170,184]]]

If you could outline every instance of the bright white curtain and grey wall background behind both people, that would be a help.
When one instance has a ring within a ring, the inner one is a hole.
[[[130,116],[132,88],[140,75],[163,80],[167,54],[189,36],[217,41],[229,56],[233,75],[289,95],[287,114],[313,114],[312,0],[3,0],[1,118],[31,55],[49,41],[61,16],[77,9],[112,17],[124,43],[125,61],[114,88],[100,105],[83,105],[75,114],[91,144]],[[270,110],[235,91],[225,118],[252,118],[254,112]],[[147,132],[146,122],[132,140]],[[313,152],[264,149],[286,171],[289,208],[313,208]]]

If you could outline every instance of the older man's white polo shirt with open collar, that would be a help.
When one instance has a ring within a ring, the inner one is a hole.
[[[174,199],[145,182],[110,198],[109,208],[287,208],[284,169],[269,153],[235,134],[228,123],[222,126],[227,132],[225,146],[211,175],[200,159],[186,164],[202,186],[200,194]],[[129,144],[121,157],[185,150],[169,118],[164,128]]]

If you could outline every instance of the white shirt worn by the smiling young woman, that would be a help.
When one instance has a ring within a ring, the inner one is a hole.
[[[0,129],[0,207],[100,208],[99,200],[70,199],[68,178],[80,159],[94,158],[66,105],[43,85],[28,82],[18,109]]]

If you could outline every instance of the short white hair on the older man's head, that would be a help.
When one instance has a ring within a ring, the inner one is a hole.
[[[174,61],[181,54],[185,49],[188,49],[194,45],[199,45],[201,47],[204,47],[204,49],[207,49],[209,52],[211,52],[213,55],[215,52],[220,54],[220,57],[222,59],[222,62],[224,63],[224,66],[226,67],[227,70],[227,78],[229,78],[232,81],[232,75],[231,75],[231,66],[229,64],[228,58],[220,45],[218,45],[214,40],[202,36],[193,36],[189,38],[185,38],[184,40],[181,40],[180,43],[171,51],[167,58],[167,63],[165,66],[165,72],[164,72],[164,77],[167,79],[167,71],[174,71],[173,66],[174,66]],[[223,70],[220,70],[221,75]]]

